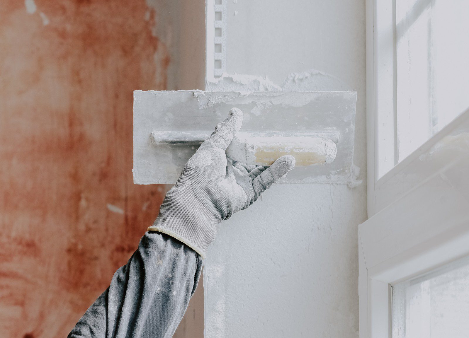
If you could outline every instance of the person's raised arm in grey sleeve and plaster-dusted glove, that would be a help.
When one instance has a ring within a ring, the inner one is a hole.
[[[227,158],[242,117],[239,109],[231,109],[189,159],[138,250],[69,337],[172,337],[217,225],[249,207],[295,165],[290,155],[269,167]]]

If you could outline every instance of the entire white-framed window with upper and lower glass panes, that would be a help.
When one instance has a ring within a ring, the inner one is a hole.
[[[469,331],[469,1],[365,0],[360,338]]]

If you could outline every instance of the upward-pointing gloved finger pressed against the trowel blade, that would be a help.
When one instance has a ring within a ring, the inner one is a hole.
[[[210,145],[222,150],[227,150],[234,135],[241,129],[242,117],[243,115],[240,109],[231,108],[227,119],[217,124],[215,131],[202,143],[202,146]]]

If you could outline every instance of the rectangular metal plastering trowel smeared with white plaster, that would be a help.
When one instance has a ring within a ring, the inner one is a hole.
[[[353,180],[355,91],[134,91],[134,182],[175,183],[189,157],[224,120],[242,110],[227,156],[249,165],[296,158],[284,182]]]

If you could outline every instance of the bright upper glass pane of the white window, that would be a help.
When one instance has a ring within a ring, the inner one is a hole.
[[[395,3],[400,162],[469,107],[469,1]]]

